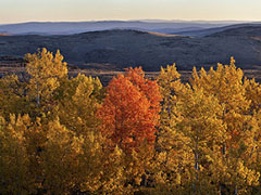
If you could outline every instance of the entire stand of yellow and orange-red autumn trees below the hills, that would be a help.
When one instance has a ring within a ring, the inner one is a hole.
[[[233,57],[107,87],[59,51],[25,60],[0,78],[0,194],[260,194],[261,86]]]

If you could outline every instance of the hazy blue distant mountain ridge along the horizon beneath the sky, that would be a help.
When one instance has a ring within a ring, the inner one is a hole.
[[[239,22],[186,22],[186,21],[98,21],[98,22],[30,22],[0,25],[0,32],[9,35],[73,35],[108,29],[136,29],[171,34],[222,27]]]

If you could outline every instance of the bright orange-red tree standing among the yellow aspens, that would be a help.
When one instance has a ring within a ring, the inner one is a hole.
[[[146,79],[140,67],[114,77],[98,112],[103,135],[112,146],[119,145],[124,151],[138,147],[142,142],[153,144],[160,101],[159,86]]]

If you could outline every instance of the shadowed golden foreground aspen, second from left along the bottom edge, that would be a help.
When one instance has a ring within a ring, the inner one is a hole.
[[[48,123],[47,142],[41,152],[42,187],[48,194],[70,194],[78,181],[79,154],[84,140],[59,120]]]

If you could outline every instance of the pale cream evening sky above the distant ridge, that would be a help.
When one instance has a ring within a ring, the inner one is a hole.
[[[261,0],[0,0],[0,24],[73,21],[261,21]]]

